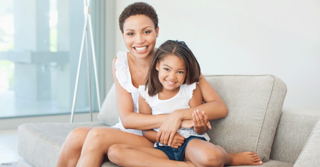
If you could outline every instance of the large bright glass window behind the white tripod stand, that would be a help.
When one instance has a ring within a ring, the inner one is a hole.
[[[0,118],[70,113],[84,27],[83,1],[0,2]],[[95,10],[103,10],[104,5],[96,4],[100,8]],[[102,62],[97,64],[101,90],[105,90],[103,54],[96,53],[97,62]],[[76,112],[90,110],[86,64],[84,47]],[[92,107],[97,111],[93,65],[91,83]],[[105,96],[103,92],[100,97]]]

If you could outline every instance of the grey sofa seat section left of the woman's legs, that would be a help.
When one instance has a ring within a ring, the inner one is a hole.
[[[18,152],[36,167],[55,167],[68,134],[80,126],[107,126],[101,122],[31,123],[18,127]]]

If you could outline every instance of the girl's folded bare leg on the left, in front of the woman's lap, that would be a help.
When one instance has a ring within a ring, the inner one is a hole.
[[[115,144],[108,150],[111,162],[123,167],[195,167],[191,162],[172,161],[161,150],[128,144]]]

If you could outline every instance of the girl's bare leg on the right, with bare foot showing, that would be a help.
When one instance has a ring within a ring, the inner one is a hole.
[[[222,147],[200,139],[189,141],[185,152],[185,158],[186,161],[191,161],[197,167],[262,164],[259,156],[253,152],[228,154]]]

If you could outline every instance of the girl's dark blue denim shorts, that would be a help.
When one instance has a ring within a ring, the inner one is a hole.
[[[200,140],[207,141],[205,140],[204,137],[189,136],[187,139],[184,140],[184,143],[179,148],[172,148],[170,146],[159,146],[159,143],[156,143],[157,147],[155,148],[163,151],[169,157],[170,160],[182,161],[188,142],[191,141],[192,139],[200,139]]]

